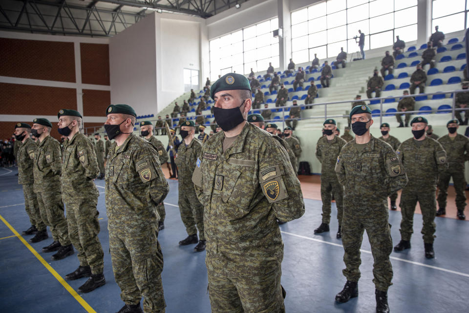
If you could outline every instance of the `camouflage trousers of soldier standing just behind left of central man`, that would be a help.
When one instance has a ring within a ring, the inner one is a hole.
[[[181,188],[182,187],[182,188]],[[192,186],[184,188],[185,186],[179,185],[179,212],[181,213],[181,220],[188,235],[197,234],[199,230],[199,239],[205,240],[204,235],[204,206],[200,204],[195,189]]]

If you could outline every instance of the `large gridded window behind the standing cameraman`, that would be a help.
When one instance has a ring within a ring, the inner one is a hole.
[[[341,47],[349,54],[359,51],[353,38],[359,29],[365,34],[364,50],[393,45],[395,36],[417,40],[417,0],[326,0],[291,17],[295,63],[312,61],[315,53],[320,59],[335,57]]]

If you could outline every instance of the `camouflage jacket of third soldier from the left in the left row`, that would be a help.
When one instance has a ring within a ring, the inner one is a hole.
[[[103,143],[104,148],[104,142],[99,141]],[[72,139],[65,143],[62,155],[62,196],[70,201],[87,197],[98,198],[98,189],[93,182],[98,171],[93,142],[84,134],[74,134]]]

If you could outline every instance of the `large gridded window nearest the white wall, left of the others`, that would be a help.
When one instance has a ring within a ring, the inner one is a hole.
[[[279,67],[278,38],[272,31],[278,28],[278,19],[261,22],[210,41],[210,77],[235,71],[249,74],[267,70],[269,62]]]

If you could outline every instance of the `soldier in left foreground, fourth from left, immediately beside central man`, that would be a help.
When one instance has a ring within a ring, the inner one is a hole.
[[[106,169],[106,211],[112,271],[125,302],[118,313],[165,312],[161,282],[163,254],[157,240],[156,209],[169,191],[158,152],[133,134],[137,114],[125,104],[110,105],[104,125],[115,139]]]

